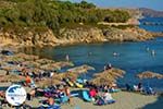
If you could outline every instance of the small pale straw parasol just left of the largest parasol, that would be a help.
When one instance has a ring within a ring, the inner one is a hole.
[[[95,70],[95,68],[87,65],[87,64],[84,64],[80,66],[68,69],[67,71],[76,72],[76,73],[80,74],[80,73],[87,73],[89,70]]]

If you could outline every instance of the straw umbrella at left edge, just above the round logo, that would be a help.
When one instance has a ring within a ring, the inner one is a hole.
[[[0,82],[20,82],[25,81],[25,76],[21,76],[17,74],[9,74],[0,77]]]

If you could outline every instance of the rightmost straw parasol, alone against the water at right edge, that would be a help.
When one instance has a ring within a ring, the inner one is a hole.
[[[159,73],[146,71],[146,72],[137,74],[137,77],[139,77],[140,80],[142,80],[142,78],[154,78],[154,77],[163,78],[163,75],[159,74]]]

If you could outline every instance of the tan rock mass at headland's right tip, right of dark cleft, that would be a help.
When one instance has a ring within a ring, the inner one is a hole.
[[[149,32],[136,27],[126,29],[103,29],[103,35],[109,41],[142,41],[153,37]]]

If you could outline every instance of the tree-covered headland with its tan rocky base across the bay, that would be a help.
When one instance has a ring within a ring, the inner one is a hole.
[[[129,27],[139,24],[137,16],[139,10],[101,9],[86,1],[0,0],[0,44],[43,47],[151,39],[151,33]]]

